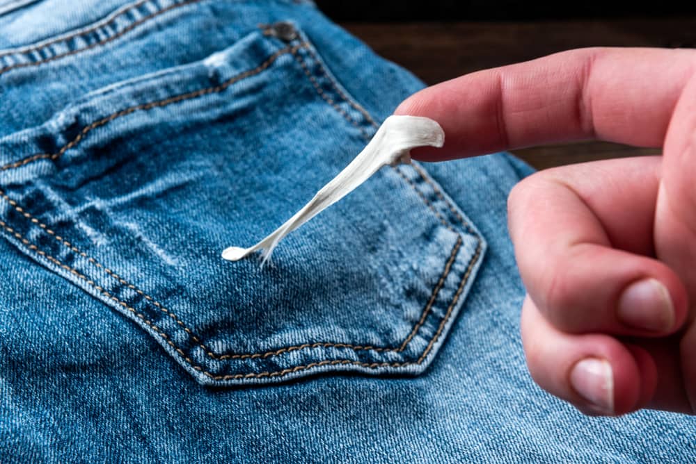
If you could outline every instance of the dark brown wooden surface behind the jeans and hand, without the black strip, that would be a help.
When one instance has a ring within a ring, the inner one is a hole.
[[[434,84],[468,72],[579,47],[695,47],[696,17],[545,22],[342,22],[381,56]],[[659,154],[606,142],[516,150],[538,169]]]

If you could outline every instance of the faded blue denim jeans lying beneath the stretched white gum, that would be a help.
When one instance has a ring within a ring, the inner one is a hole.
[[[507,154],[382,169],[230,263],[422,87],[306,1],[0,7],[0,461],[693,461],[537,388]]]

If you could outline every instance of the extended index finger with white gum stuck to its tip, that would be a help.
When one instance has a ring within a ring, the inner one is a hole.
[[[445,130],[442,149],[415,151],[422,160],[585,139],[660,147],[695,70],[693,50],[576,49],[445,81],[395,114]]]

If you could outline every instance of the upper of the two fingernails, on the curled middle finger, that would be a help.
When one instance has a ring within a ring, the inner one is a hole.
[[[674,326],[670,292],[656,279],[634,282],[619,299],[617,317],[635,329],[668,331]]]

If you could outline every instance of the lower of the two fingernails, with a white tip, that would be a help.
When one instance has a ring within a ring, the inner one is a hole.
[[[571,370],[570,383],[593,411],[603,415],[614,413],[614,374],[607,361],[583,359]]]

